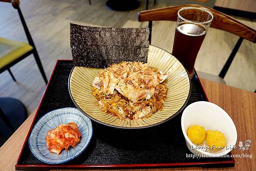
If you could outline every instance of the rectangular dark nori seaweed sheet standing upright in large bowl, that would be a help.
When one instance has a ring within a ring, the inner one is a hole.
[[[148,28],[111,28],[70,23],[70,46],[77,67],[106,68],[122,61],[147,62]]]

